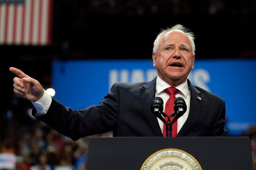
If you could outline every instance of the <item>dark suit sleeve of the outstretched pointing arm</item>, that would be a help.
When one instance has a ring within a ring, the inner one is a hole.
[[[48,112],[45,115],[36,116],[36,118],[61,134],[78,140],[81,137],[113,130],[118,115],[118,102],[118,84],[115,83],[98,106],[93,105],[82,110],[72,110],[52,98]],[[32,115],[36,115],[35,108]]]

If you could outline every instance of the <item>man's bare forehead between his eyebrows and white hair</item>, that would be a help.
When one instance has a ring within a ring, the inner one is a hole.
[[[162,45],[167,42],[172,43],[185,43],[191,47],[190,41],[188,39],[188,35],[183,33],[180,30],[172,30],[166,33],[162,38]]]

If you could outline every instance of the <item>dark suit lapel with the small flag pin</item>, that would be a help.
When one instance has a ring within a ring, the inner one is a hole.
[[[182,128],[180,129],[177,136],[184,136],[186,132],[191,128],[191,126],[196,122],[199,114],[201,113],[204,98],[200,95],[201,92],[191,85],[188,80],[188,88],[190,89],[190,109],[188,113],[188,118]]]

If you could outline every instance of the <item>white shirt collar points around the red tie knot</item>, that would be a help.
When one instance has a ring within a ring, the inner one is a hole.
[[[169,84],[167,84],[164,80],[162,80],[159,76],[157,76],[157,78],[156,78],[156,93],[157,93],[157,95],[159,95],[159,93],[161,93],[161,92],[164,92],[164,90],[167,89],[168,87],[171,87],[171,86]],[[178,93],[181,93],[184,98],[186,98],[188,96],[188,82],[187,81],[176,86],[175,88],[180,91]]]

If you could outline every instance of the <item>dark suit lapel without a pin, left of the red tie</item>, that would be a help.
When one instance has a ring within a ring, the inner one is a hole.
[[[156,96],[156,78],[154,78],[152,81],[149,81],[148,83],[146,83],[140,88],[140,99],[141,99],[141,104],[142,104],[144,113],[148,119],[148,122],[150,123],[156,136],[161,137],[163,136],[163,134],[160,129],[159,123],[157,121],[157,118],[153,113],[151,113],[151,110],[150,110],[152,100],[155,98],[155,96]]]

